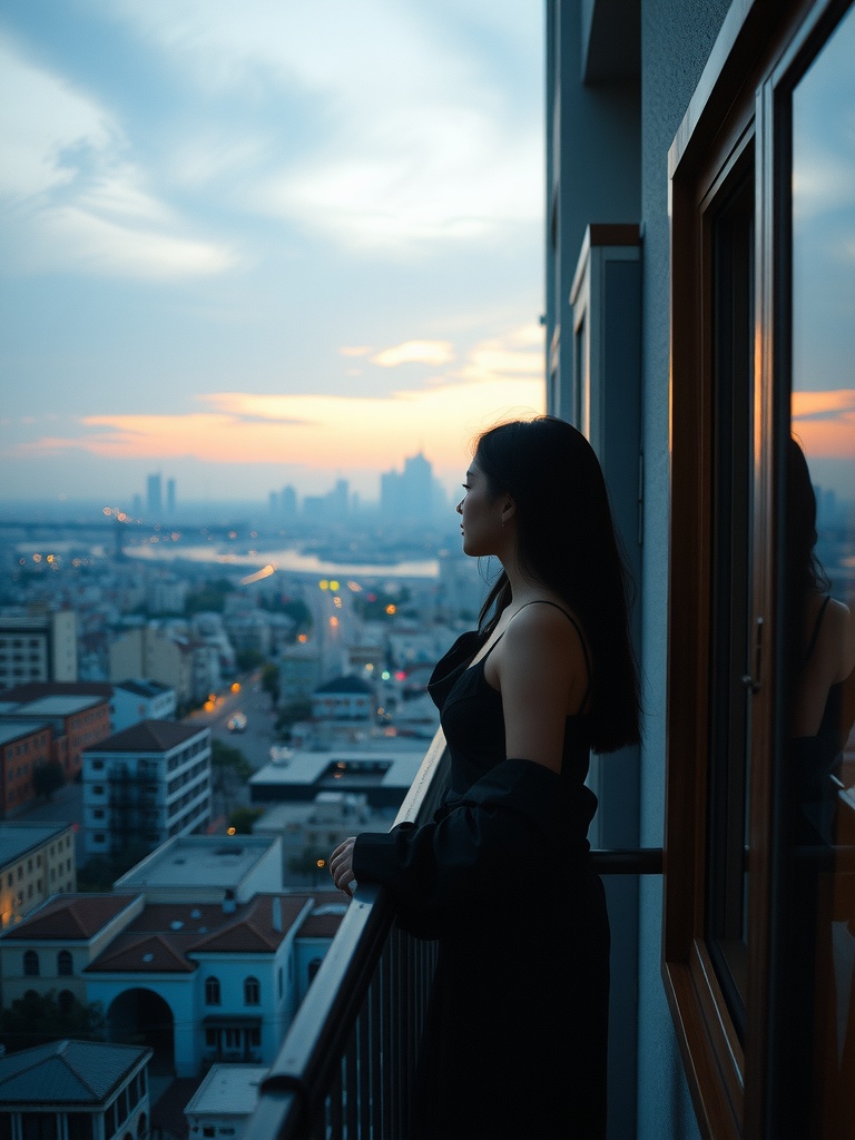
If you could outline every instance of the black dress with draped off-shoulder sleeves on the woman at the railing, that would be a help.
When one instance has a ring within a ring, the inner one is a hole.
[[[600,1140],[609,921],[589,862],[586,718],[568,718],[561,775],[507,758],[487,657],[469,667],[480,644],[464,634],[429,685],[450,755],[434,820],[353,850],[357,880],[391,889],[400,926],[439,939],[410,1137]]]

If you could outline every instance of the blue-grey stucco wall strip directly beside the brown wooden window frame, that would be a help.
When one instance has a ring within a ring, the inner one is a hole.
[[[727,0],[644,0],[642,3],[642,218],[644,546],[642,670],[645,747],[642,759],[641,842],[662,841],[665,703],[668,620],[668,165],[679,127]],[[638,1137],[692,1140],[698,1126],[662,996],[661,882],[642,881]]]

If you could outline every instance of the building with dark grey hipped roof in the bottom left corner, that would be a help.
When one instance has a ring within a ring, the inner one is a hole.
[[[3,1140],[113,1140],[149,1134],[152,1050],[54,1041],[0,1057]]]

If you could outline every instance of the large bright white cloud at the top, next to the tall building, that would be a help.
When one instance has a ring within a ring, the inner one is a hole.
[[[280,122],[275,135],[270,124],[267,156],[259,145],[234,186],[247,212],[349,250],[386,253],[539,225],[542,108],[527,104],[529,82],[508,91],[495,51],[500,40],[507,58],[536,73],[539,25],[512,5],[470,5],[459,23],[393,0],[324,0],[323,9],[278,0],[101,7],[209,99],[237,100],[256,120],[283,107],[287,128]],[[479,23],[489,35],[473,34]],[[521,24],[536,31],[521,35]],[[234,147],[219,140],[194,150],[184,165],[204,174],[231,164]]]

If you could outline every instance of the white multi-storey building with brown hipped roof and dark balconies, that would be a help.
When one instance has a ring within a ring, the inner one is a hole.
[[[85,850],[156,847],[203,831],[211,817],[211,733],[174,720],[142,720],[83,756]]]

